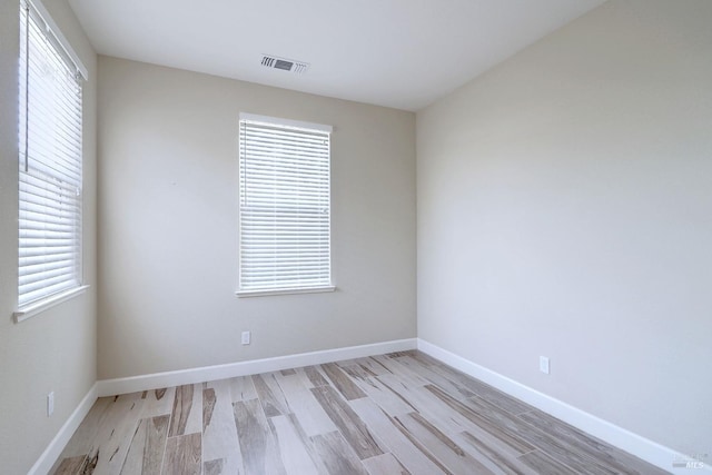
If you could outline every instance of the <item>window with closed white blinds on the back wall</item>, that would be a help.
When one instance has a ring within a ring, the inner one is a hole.
[[[334,290],[330,132],[240,115],[238,295]]]

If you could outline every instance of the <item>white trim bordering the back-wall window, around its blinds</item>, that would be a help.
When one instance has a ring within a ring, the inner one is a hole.
[[[261,122],[268,126],[277,126],[285,128],[294,128],[294,129],[306,129],[313,131],[319,131],[328,133],[329,136],[334,131],[334,127],[323,123],[307,122],[300,120],[291,120],[284,119],[279,117],[270,117],[270,116],[261,116],[256,113],[240,112],[238,123],[241,127],[243,121],[251,121],[251,122]],[[240,131],[241,133],[241,131]],[[238,169],[240,169],[241,161],[241,137],[238,139]],[[266,296],[278,296],[278,295],[298,295],[298,294],[319,294],[319,293],[332,293],[336,290],[336,286],[334,285],[334,273],[333,273],[333,240],[332,240],[332,177],[330,177],[330,167],[332,167],[332,156],[330,156],[330,137],[329,137],[329,283],[324,285],[315,285],[309,287],[281,287],[281,288],[257,288],[257,289],[243,289],[241,288],[241,260],[243,260],[243,219],[241,219],[241,206],[238,198],[238,268],[237,268],[237,278],[238,278],[238,288],[235,291],[235,295],[239,298],[245,297],[266,297]],[[241,192],[240,184],[238,184],[238,196]]]

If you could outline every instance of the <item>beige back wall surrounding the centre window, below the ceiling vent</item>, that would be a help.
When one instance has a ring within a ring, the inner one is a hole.
[[[414,113],[108,57],[99,83],[100,379],[415,337]],[[337,291],[235,296],[240,111],[334,126]]]

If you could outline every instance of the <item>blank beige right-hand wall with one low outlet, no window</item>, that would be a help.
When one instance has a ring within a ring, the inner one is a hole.
[[[711,19],[610,1],[417,115],[418,336],[693,454],[712,449]]]

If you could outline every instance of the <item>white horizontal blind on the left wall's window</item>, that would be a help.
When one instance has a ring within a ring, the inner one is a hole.
[[[20,6],[20,308],[81,285],[81,78],[39,12]]]

